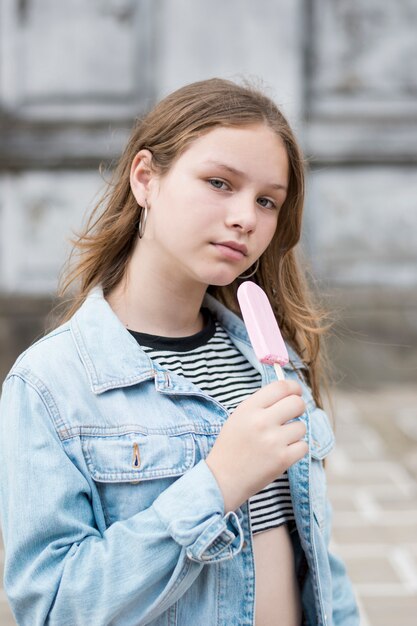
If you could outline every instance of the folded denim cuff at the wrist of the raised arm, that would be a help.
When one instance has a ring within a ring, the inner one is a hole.
[[[161,493],[152,507],[192,561],[225,561],[242,549],[243,513],[237,509],[224,514],[223,496],[204,459]]]

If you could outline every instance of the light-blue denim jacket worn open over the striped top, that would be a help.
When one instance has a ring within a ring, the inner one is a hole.
[[[242,320],[206,295],[262,374]],[[309,454],[288,470],[304,623],[358,626],[342,562],[328,552],[326,414],[300,378]],[[22,626],[253,626],[248,503],[225,511],[205,457],[226,409],[141,349],[93,289],[24,352],[0,406],[4,587]],[[278,566],[278,563],[277,563]]]

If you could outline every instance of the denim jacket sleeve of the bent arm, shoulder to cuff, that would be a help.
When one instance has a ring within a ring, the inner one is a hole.
[[[239,511],[238,511],[239,512]],[[146,510],[100,532],[87,478],[40,390],[10,375],[0,403],[4,587],[21,626],[137,626],[176,602],[243,532],[204,460]]]

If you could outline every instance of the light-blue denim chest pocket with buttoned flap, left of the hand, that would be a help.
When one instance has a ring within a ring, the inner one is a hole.
[[[114,434],[110,429],[82,435],[81,445],[107,526],[149,508],[195,464],[191,433]]]

